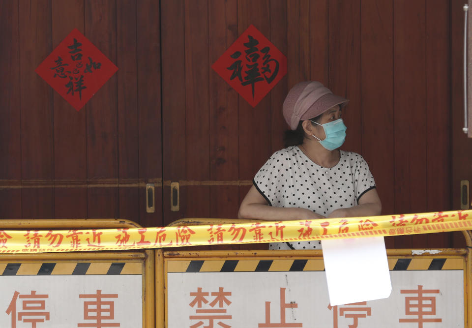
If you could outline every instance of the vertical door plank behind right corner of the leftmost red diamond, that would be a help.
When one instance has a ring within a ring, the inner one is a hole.
[[[115,1],[85,1],[85,36],[117,63]],[[88,179],[118,178],[117,74],[86,105]],[[118,188],[89,188],[90,218],[118,217]]]

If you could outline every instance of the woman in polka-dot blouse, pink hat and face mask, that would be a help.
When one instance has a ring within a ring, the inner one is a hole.
[[[285,149],[259,170],[239,218],[269,221],[379,215],[375,181],[361,155],[338,149],[346,138],[342,111],[349,100],[323,84],[296,84],[283,105],[290,126]],[[320,241],[271,243],[269,249],[321,249]]]

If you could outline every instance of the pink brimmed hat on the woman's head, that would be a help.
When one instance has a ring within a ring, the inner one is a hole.
[[[290,89],[285,98],[284,118],[290,128],[295,130],[300,120],[313,119],[336,105],[344,107],[348,101],[334,95],[320,82],[300,82]]]

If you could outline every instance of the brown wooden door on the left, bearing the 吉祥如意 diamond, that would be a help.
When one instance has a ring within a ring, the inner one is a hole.
[[[1,218],[162,224],[159,17],[152,0],[0,1]],[[78,112],[34,72],[75,28],[119,68]]]

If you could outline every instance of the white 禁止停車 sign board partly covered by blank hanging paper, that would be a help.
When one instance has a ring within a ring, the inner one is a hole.
[[[390,274],[389,298],[331,306],[323,271],[168,272],[167,328],[464,327],[463,270]]]

